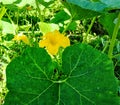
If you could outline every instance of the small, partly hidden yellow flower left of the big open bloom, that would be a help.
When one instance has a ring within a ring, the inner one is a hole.
[[[25,44],[30,44],[28,37],[22,33],[15,35],[13,40],[16,40],[16,41],[22,40]]]

